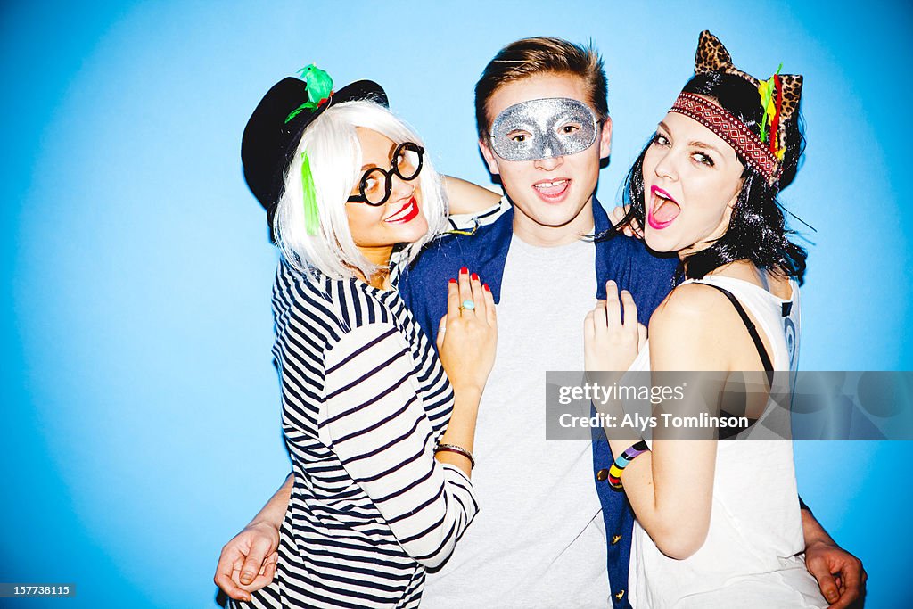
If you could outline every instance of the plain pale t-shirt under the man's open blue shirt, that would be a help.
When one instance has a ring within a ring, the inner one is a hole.
[[[592,243],[513,236],[477,422],[482,509],[444,568],[428,572],[423,608],[611,606],[593,449],[545,439],[545,373],[582,370],[594,276]]]

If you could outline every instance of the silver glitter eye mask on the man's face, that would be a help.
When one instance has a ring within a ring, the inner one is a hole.
[[[583,152],[596,141],[593,110],[578,100],[529,100],[491,124],[491,148],[505,161],[536,161]]]

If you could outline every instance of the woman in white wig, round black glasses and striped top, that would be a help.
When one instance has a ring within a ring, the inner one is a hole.
[[[451,278],[438,356],[397,294],[399,265],[446,227],[446,199],[421,140],[385,106],[376,83],[333,92],[309,66],[247,123],[245,177],[281,252],[273,355],[292,472],[220,557],[232,606],[418,606],[425,569],[478,509],[471,451],[494,302],[467,269]]]

